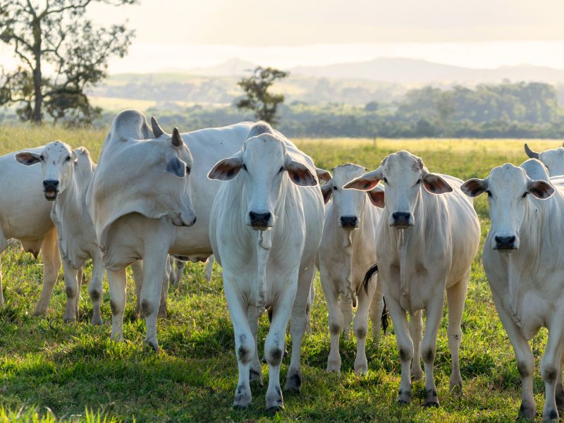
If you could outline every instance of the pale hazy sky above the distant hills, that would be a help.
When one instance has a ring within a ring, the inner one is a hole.
[[[561,0],[140,0],[89,6],[136,36],[110,72],[213,66],[230,58],[291,68],[375,57],[471,68],[564,68]],[[0,63],[15,65],[0,47]]]

